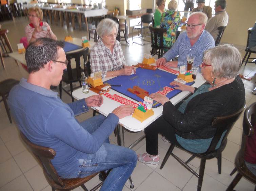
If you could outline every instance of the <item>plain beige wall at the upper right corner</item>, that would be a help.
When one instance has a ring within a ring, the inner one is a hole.
[[[245,46],[248,28],[253,27],[256,20],[256,0],[227,0],[229,23],[221,38],[221,42]]]

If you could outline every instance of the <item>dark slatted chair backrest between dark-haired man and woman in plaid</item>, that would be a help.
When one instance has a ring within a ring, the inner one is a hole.
[[[85,49],[82,49],[78,52],[74,52],[74,53],[68,53],[66,54],[66,58],[68,60],[68,64],[67,64],[67,74],[68,74],[68,80],[69,81],[73,81],[75,79],[80,80],[81,78],[81,64],[80,64],[80,57],[83,56],[83,63],[86,62],[87,60],[87,54],[88,54],[88,47]],[[73,76],[72,74],[72,68],[71,68],[71,59],[75,58],[76,61],[76,76]],[[84,64],[82,64],[84,65]],[[75,78],[74,78],[75,77]]]

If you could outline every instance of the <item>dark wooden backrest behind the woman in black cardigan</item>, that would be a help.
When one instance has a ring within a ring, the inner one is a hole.
[[[218,144],[222,134],[225,132],[221,144],[226,141],[227,136],[233,127],[234,123],[238,119],[239,115],[242,113],[242,111],[245,108],[245,101],[243,104],[243,107],[241,107],[237,112],[226,115],[226,116],[220,116],[220,117],[214,117],[212,121],[212,127],[217,128],[216,134],[214,135],[212,142],[208,148],[208,150],[205,152],[205,154],[210,154],[215,151],[216,145]]]

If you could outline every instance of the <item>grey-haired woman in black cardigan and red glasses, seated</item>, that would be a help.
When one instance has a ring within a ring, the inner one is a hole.
[[[197,89],[171,82],[177,85],[175,89],[193,93],[178,109],[168,98],[152,93],[150,97],[163,105],[163,115],[145,129],[147,153],[139,155],[138,160],[159,163],[158,133],[191,152],[206,152],[216,133],[211,126],[213,117],[233,114],[244,104],[244,85],[237,75],[240,64],[241,55],[235,47],[217,46],[205,51],[200,65],[210,85]]]

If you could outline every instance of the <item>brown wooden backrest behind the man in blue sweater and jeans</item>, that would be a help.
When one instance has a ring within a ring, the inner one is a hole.
[[[28,146],[28,149],[35,155],[35,157],[38,159],[39,163],[43,167],[45,178],[48,179],[48,181],[50,182],[54,182],[55,184],[64,187],[64,183],[60,179],[57,171],[55,170],[51,162],[51,160],[54,159],[54,157],[56,156],[56,152],[54,151],[54,149],[32,143],[21,131],[20,136]]]

